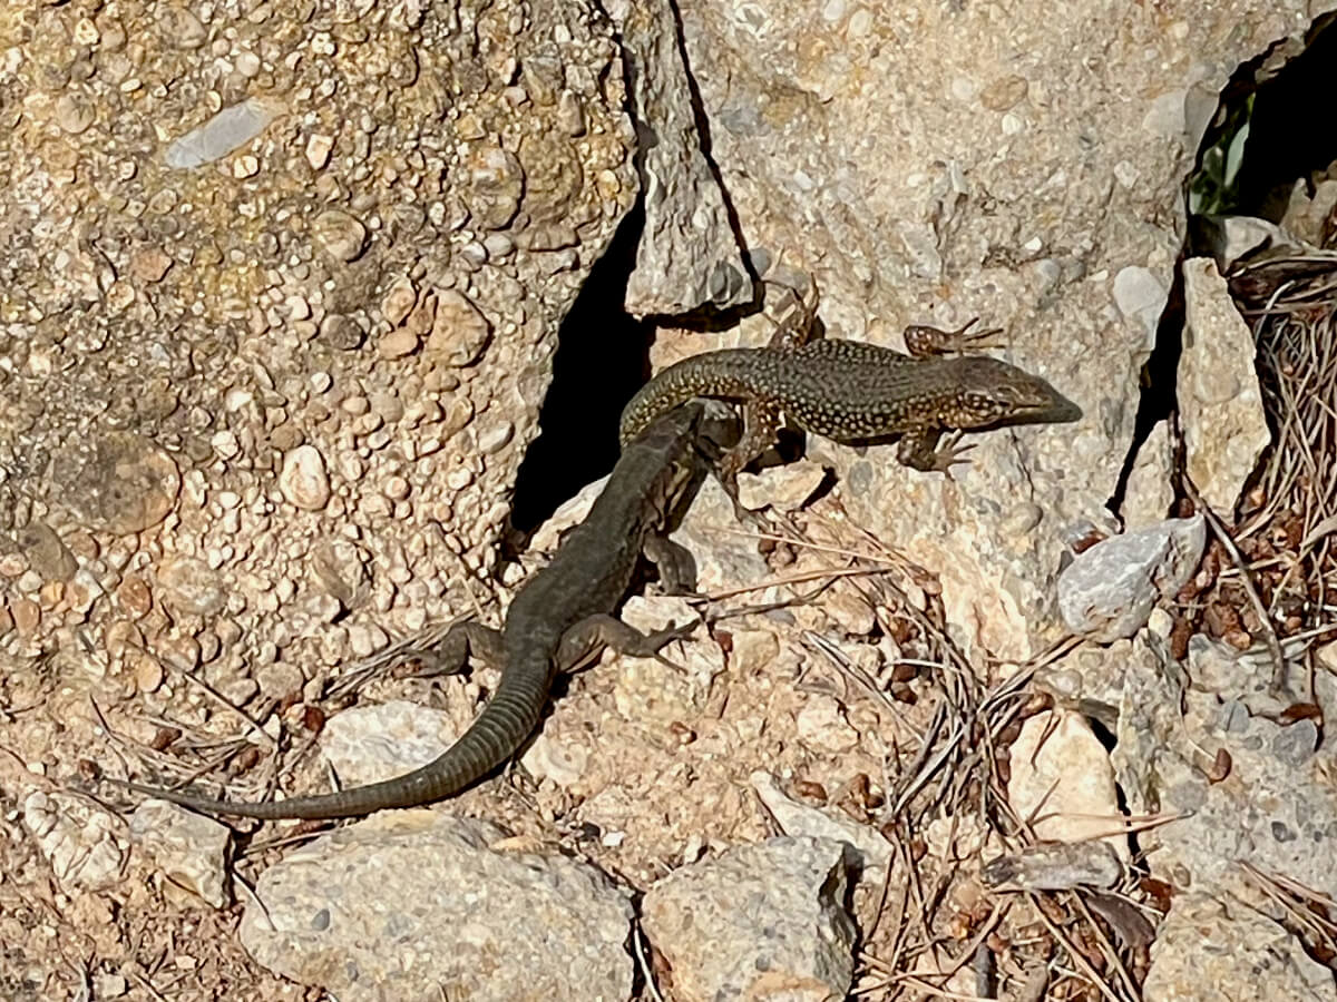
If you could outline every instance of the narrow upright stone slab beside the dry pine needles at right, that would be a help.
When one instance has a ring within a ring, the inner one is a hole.
[[[1213,510],[1235,501],[1271,441],[1254,367],[1253,331],[1210,258],[1183,263],[1185,337],[1175,389],[1189,476]]]

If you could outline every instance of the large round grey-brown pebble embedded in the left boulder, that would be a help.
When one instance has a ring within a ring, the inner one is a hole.
[[[111,432],[56,460],[62,500],[91,526],[126,536],[158,525],[176,504],[176,464],[148,438]]]

